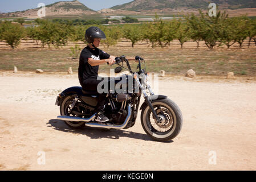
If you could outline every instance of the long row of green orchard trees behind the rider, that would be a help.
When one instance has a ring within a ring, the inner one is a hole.
[[[91,25],[72,26],[63,22],[51,22],[37,19],[37,27],[23,28],[19,24],[2,22],[0,24],[0,40],[5,40],[12,48],[18,46],[22,38],[31,38],[41,42],[42,46],[65,46],[68,40],[78,42],[84,40],[84,33]],[[99,26],[106,34],[103,41],[106,46],[113,46],[120,38],[131,40],[132,47],[141,40],[147,40],[152,47],[165,47],[174,39],[180,42],[181,48],[188,40],[204,41],[210,49],[234,43],[242,47],[246,38],[254,40],[256,45],[256,20],[246,16],[229,18],[226,13],[218,13],[210,17],[200,12],[200,16],[186,15],[164,22],[156,16],[154,22],[141,24],[125,24],[118,26]],[[250,42],[249,45],[250,46]]]

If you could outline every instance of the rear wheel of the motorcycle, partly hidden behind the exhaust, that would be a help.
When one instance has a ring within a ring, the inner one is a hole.
[[[66,96],[63,101],[62,104],[60,105],[60,115],[67,115],[67,116],[72,116],[72,117],[81,117],[80,115],[77,114],[73,114],[70,107],[72,105],[72,103],[74,102],[75,97],[71,97],[71,96]],[[75,110],[76,107],[74,107],[73,110]],[[82,129],[83,127],[85,127],[86,125],[84,124],[84,122],[75,122],[75,121],[64,121],[69,127],[71,127],[72,129]]]

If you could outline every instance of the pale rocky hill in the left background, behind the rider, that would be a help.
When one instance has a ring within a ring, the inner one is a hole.
[[[39,8],[12,13],[0,14],[0,17],[28,17],[36,18]],[[59,1],[51,5],[46,5],[46,16],[73,15],[73,14],[94,14],[95,11],[89,9],[79,1]]]

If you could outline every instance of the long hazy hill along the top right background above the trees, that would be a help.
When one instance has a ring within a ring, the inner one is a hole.
[[[111,7],[112,10],[153,10],[153,9],[207,9],[210,2],[222,9],[242,9],[256,7],[256,0],[135,0]]]

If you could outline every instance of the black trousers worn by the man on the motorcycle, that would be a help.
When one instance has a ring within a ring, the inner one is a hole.
[[[109,82],[109,77],[105,77],[104,80],[108,80]],[[83,90],[88,90],[88,91],[96,91],[97,92],[97,85],[103,81],[103,78],[101,80],[97,80],[96,78],[87,78],[86,80],[83,80],[83,82],[80,82],[82,85]],[[109,91],[109,83],[108,83],[108,91]],[[99,93],[97,92],[97,105],[96,105],[96,112],[98,113],[99,111],[103,112],[104,104],[105,104],[105,98],[107,96],[107,93]]]

